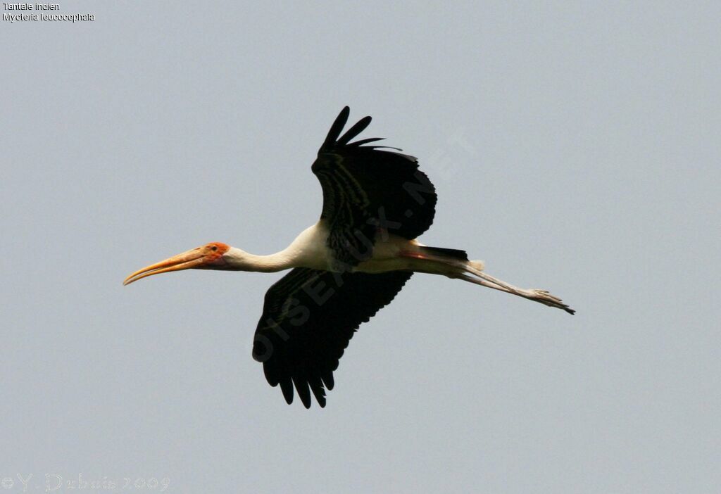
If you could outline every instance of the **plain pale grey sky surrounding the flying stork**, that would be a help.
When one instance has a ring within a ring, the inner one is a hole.
[[[63,1],[95,19],[4,20],[3,485],[719,492],[719,5]],[[121,285],[315,223],[310,165],[346,104],[435,184],[424,243],[577,315],[417,275],[305,410],[251,358],[282,274]]]

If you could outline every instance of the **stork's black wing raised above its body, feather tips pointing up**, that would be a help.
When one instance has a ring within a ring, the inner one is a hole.
[[[371,256],[379,228],[409,240],[428,230],[436,196],[416,158],[364,145],[379,138],[350,143],[371,117],[341,136],[349,113],[348,107],[342,109],[311,169],[323,188],[321,219],[329,226],[328,246],[341,264],[355,266]]]

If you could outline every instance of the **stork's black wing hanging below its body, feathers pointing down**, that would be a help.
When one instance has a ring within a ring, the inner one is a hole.
[[[265,294],[255,330],[253,358],[271,386],[280,385],[288,404],[293,384],[306,408],[311,392],[321,407],[333,389],[333,371],[361,323],[388,305],[410,271],[382,274],[332,273],[295,268]]]

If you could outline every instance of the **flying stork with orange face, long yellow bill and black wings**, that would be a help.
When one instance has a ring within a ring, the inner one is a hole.
[[[252,355],[288,404],[295,387],[306,408],[311,393],[325,406],[325,390],[333,389],[333,372],[353,333],[388,305],[413,273],[442,274],[575,312],[545,290],[521,289],[490,276],[482,261],[470,261],[465,251],[417,241],[433,223],[433,184],[413,156],[372,144],[381,138],[351,142],[371,117],[342,133],[349,114],[348,107],[342,109],[311,166],[323,190],[320,219],[291,245],[257,256],[212,242],[140,269],[123,284],[181,269],[290,269],[265,294]]]

